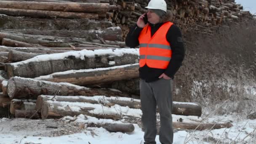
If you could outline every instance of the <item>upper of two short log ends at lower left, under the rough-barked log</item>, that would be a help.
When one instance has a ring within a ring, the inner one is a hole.
[[[15,114],[15,110],[35,110],[35,100],[12,99],[10,105],[10,113]]]

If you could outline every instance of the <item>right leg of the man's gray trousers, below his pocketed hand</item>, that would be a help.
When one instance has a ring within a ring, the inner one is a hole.
[[[159,140],[162,144],[173,143],[172,128],[172,80],[160,79],[152,84],[153,93],[157,101],[160,114],[160,133]]]

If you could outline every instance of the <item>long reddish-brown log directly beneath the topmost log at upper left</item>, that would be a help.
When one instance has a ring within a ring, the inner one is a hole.
[[[14,8],[0,8],[1,14],[8,16],[29,16],[32,18],[62,18],[62,19],[99,19],[98,13],[76,13],[63,11],[40,11]]]

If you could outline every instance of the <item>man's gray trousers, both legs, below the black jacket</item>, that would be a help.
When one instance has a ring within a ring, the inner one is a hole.
[[[172,128],[172,81],[163,78],[146,83],[140,80],[140,97],[142,110],[142,123],[144,125],[144,144],[156,144],[156,107],[160,113],[159,140],[162,144],[173,143]]]

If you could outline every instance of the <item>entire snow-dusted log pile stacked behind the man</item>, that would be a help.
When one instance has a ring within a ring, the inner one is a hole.
[[[147,0],[73,1],[0,0],[0,107],[9,107],[15,117],[34,119],[79,114],[113,120],[134,117],[112,109],[140,109],[139,51],[125,48],[123,40],[147,12]],[[171,20],[183,32],[249,15],[232,0],[167,3]],[[173,102],[172,113],[200,117],[202,107]],[[186,125],[175,123],[176,128],[191,128]],[[134,129],[115,127],[108,129]]]

